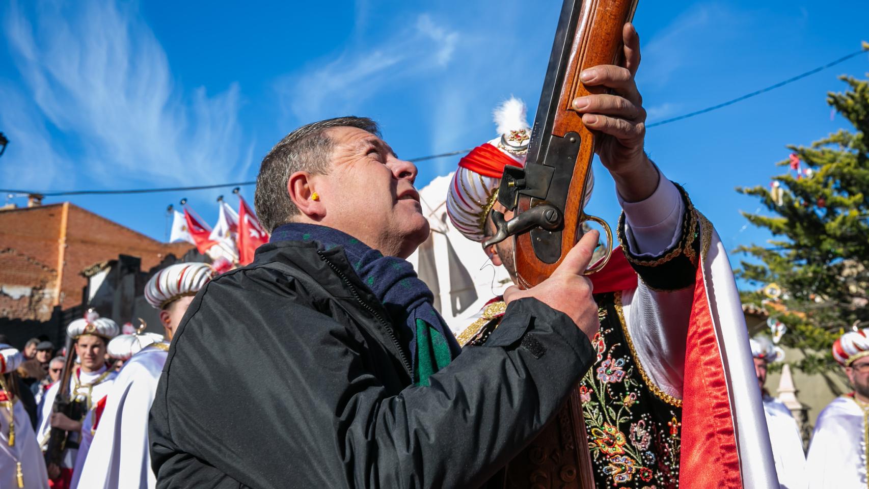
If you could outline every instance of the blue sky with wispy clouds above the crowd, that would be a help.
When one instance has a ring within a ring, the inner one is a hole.
[[[0,188],[146,188],[249,181],[305,122],[371,116],[402,157],[494,137],[514,95],[533,112],[561,2],[5,2],[0,7]],[[866,2],[663,2],[634,18],[648,122],[723,102],[827,63],[869,40]],[[861,55],[785,88],[648,130],[647,151],[687,188],[727,248],[766,240],[736,186],[768,185],[786,144],[847,127],[836,76]],[[533,114],[529,114],[533,118]],[[418,187],[458,158],[420,163]],[[589,212],[616,222],[595,163]],[[70,199],[163,239],[182,197],[207,220],[230,188]],[[248,200],[253,188],[242,189]],[[61,202],[61,197],[45,202]],[[11,202],[22,204],[23,198]],[[235,199],[230,199],[235,205]],[[733,259],[733,257],[732,257]]]

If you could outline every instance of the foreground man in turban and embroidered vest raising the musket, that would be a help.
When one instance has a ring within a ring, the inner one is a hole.
[[[733,272],[711,224],[644,152],[646,112],[634,83],[639,38],[630,25],[623,35],[627,68],[598,66],[581,76],[612,92],[574,100],[587,127],[600,131],[596,152],[624,210],[620,248],[589,276],[600,332],[597,363],[579,389],[595,483],[778,487],[768,435],[755,429],[763,410]],[[497,190],[505,166],[523,165],[531,137],[521,102],[496,109],[495,121],[501,135],[461,159],[447,198],[455,228],[478,242],[495,234],[492,209],[513,217]],[[516,283],[514,240],[485,252]],[[490,301],[460,344],[484,346],[503,311],[500,297]],[[564,480],[561,464],[543,452],[532,442],[516,460]],[[517,477],[509,467],[508,484]]]

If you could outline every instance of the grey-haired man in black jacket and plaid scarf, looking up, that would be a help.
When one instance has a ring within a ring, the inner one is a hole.
[[[158,487],[474,487],[554,415],[595,360],[597,234],[459,354],[403,260],[428,235],[415,176],[359,117],[266,156],[271,241],[202,288],[163,367]]]

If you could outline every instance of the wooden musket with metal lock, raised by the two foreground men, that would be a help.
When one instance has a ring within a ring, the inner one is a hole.
[[[584,221],[598,222],[608,240],[605,257],[586,274],[600,270],[609,259],[612,231],[605,221],[583,212],[595,135],[586,129],[572,102],[605,90],[585,87],[580,72],[618,63],[622,29],[634,17],[636,4],[637,0],[565,0],[561,7],[525,166],[507,166],[498,191],[499,202],[515,210],[515,215],[505,221],[504,215],[493,211],[499,232],[484,245],[514,236],[520,287],[534,287],[554,272],[579,241]],[[578,388],[556,419],[509,463],[497,485],[594,488]]]

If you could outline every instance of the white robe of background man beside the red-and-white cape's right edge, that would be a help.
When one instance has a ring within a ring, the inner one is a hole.
[[[763,410],[769,439],[773,443],[775,472],[782,489],[806,489],[806,454],[797,420],[780,400],[764,396]]]

